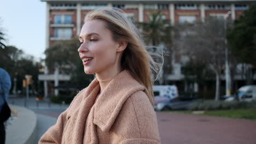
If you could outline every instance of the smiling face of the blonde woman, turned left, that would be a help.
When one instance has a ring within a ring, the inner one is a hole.
[[[119,43],[112,39],[112,33],[102,20],[86,21],[79,35],[79,56],[86,74],[100,74],[117,65]]]

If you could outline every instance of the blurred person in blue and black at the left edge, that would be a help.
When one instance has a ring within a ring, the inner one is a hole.
[[[10,108],[7,104],[11,88],[10,76],[4,69],[0,68],[0,143],[5,143],[4,122],[10,117]]]

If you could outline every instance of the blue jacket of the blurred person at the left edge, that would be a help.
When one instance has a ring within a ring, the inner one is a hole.
[[[4,69],[0,68],[0,110],[4,104],[4,99],[7,101],[9,96],[9,91],[11,88],[10,76]]]

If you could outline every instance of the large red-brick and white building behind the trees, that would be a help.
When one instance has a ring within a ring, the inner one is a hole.
[[[243,10],[255,3],[252,0],[164,0],[164,1],[104,1],[104,0],[41,0],[46,3],[46,49],[56,41],[68,40],[79,35],[84,23],[84,17],[92,9],[115,7],[123,9],[128,17],[133,21],[147,22],[147,15],[152,10],[161,10],[164,19],[170,20],[172,25],[183,22],[204,21],[205,17],[224,17],[229,13],[229,18],[237,19]],[[168,76],[168,80],[179,81],[183,79],[181,74],[181,64],[174,62],[173,74]],[[48,82],[55,87],[59,81],[67,81],[69,75],[63,75],[56,70],[54,74],[49,74],[45,69],[44,75],[39,76],[39,80],[44,81],[45,97],[48,95]],[[55,94],[57,94],[55,90]]]

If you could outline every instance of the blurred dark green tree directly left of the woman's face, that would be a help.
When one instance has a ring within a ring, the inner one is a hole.
[[[60,71],[70,74],[71,81],[69,83],[74,87],[84,88],[89,85],[94,76],[84,73],[84,65],[77,51],[79,46],[80,42],[76,37],[71,40],[59,41],[45,50],[45,63],[51,72],[58,67]]]

